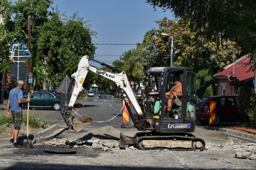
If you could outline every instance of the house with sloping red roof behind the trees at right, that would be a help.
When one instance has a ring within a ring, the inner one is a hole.
[[[253,82],[255,71],[250,70],[250,54],[237,59],[234,63],[227,65],[223,71],[213,75],[217,79],[217,94],[236,95],[234,87],[230,85],[230,77],[235,76],[239,81]]]

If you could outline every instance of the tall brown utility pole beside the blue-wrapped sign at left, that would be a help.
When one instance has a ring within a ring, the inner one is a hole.
[[[31,51],[31,21],[30,15],[27,17],[27,47],[28,51]],[[27,59],[27,94],[31,92],[31,84],[28,82],[29,74],[31,72],[31,58]]]

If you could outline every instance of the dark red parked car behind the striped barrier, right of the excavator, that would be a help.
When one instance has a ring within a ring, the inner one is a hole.
[[[216,124],[220,122],[237,123],[241,122],[241,114],[237,108],[237,96],[208,96],[203,98],[196,105],[196,119],[202,123],[209,123],[210,101],[216,102]]]

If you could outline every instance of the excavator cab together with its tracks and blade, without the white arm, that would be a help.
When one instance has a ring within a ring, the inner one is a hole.
[[[205,141],[195,137],[196,74],[185,67],[155,67],[147,73],[144,127],[133,137],[120,134],[119,146],[139,149],[203,150]],[[174,95],[170,99],[172,91]],[[168,96],[166,96],[168,95]],[[171,103],[168,105],[168,101]],[[171,104],[171,110],[170,107]],[[170,111],[168,111],[170,110]],[[138,127],[141,126],[137,126]],[[140,129],[138,129],[140,130]]]

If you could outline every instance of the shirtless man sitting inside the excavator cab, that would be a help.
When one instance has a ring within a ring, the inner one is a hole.
[[[172,86],[170,92],[166,92],[165,95],[168,96],[167,100],[167,111],[166,114],[169,115],[172,110],[172,100],[176,98],[182,99],[182,83],[180,78],[173,78],[174,86]]]

